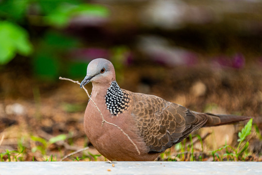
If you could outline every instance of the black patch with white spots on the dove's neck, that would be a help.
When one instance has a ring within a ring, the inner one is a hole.
[[[116,81],[113,81],[107,89],[106,96],[107,109],[111,114],[123,113],[130,105],[130,96],[125,90],[121,90]]]

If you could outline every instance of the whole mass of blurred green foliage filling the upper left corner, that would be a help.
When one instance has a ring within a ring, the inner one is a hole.
[[[78,16],[107,18],[109,10],[84,0],[0,0],[0,65],[18,53],[30,56],[34,73],[41,77],[56,79],[61,72],[85,74],[86,63],[65,66],[63,60],[71,48],[81,46],[78,39],[63,34],[70,20]],[[37,33],[36,26],[43,31]]]

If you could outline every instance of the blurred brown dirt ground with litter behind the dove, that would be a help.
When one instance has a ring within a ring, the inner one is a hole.
[[[121,88],[157,95],[198,112],[252,116],[253,123],[262,133],[262,65],[257,61],[247,61],[242,69],[214,68],[204,63],[171,68],[155,63],[136,63],[139,66],[132,64],[119,71],[123,73],[117,77]],[[8,154],[3,154],[6,150],[21,151],[24,147],[19,156],[11,154],[11,161],[15,161],[15,156],[18,161],[44,161],[51,155],[53,160],[61,160],[86,146],[89,149],[65,161],[81,157],[81,161],[105,160],[102,156],[96,156],[99,153],[84,134],[83,115],[88,98],[79,85],[62,80],[41,80],[16,61],[0,70],[0,80],[2,161],[10,161]],[[75,80],[82,81],[81,78]],[[86,87],[90,93],[91,84]],[[225,140],[235,146],[237,133],[244,124],[215,128],[214,132],[213,128],[197,132],[204,140],[204,151],[200,151],[199,141],[195,141],[195,156],[202,155],[202,160],[213,160],[209,151],[223,145]],[[211,134],[205,138],[207,133]],[[61,134],[66,134],[65,140],[48,143],[47,140]],[[262,140],[259,140],[254,128],[248,140],[250,155],[246,160],[262,161]],[[174,147],[168,151],[169,155],[178,154]]]

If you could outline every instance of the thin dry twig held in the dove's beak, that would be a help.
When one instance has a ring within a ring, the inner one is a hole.
[[[78,81],[74,81],[74,80],[71,80],[71,79],[69,79],[69,78],[59,77],[59,79],[60,79],[60,80],[67,80],[67,81],[70,81],[70,82],[73,82],[73,83],[76,83],[76,84],[80,85],[80,83],[79,83]],[[109,122],[107,122],[107,121],[104,119],[104,116],[103,116],[103,114],[101,113],[100,109],[98,108],[97,104],[96,104],[96,103],[93,101],[93,99],[90,97],[90,95],[89,95],[88,91],[86,90],[86,88],[84,88],[84,86],[82,86],[82,87],[83,87],[84,91],[86,92],[88,98],[93,102],[93,104],[94,104],[94,105],[96,106],[96,108],[98,109],[98,112],[100,113],[100,115],[101,115],[101,117],[102,117],[102,126],[103,126],[104,123],[107,123],[107,124],[111,124],[111,125],[117,127],[118,129],[120,129],[120,131],[122,131],[122,133],[123,133],[125,136],[127,136],[127,138],[128,138],[128,139],[131,141],[131,143],[135,146],[136,151],[137,151],[138,154],[140,155],[139,149],[137,148],[137,146],[136,146],[136,144],[133,142],[133,140],[131,140],[131,138],[129,137],[129,135],[128,135],[127,133],[125,133],[125,131],[123,131],[123,129],[121,129],[121,128],[120,128],[119,126],[117,126],[116,124],[114,124],[114,123],[109,123]]]

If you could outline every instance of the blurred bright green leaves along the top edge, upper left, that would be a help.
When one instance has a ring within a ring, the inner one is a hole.
[[[108,17],[109,10],[83,0],[1,0],[0,18],[22,24],[30,16],[43,17],[48,25],[65,26],[75,16]]]

